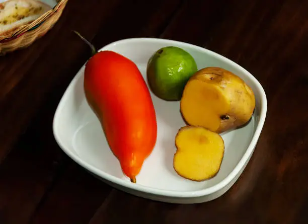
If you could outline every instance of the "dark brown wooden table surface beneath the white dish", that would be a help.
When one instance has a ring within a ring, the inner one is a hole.
[[[54,28],[0,58],[0,223],[308,223],[308,2],[70,0]],[[202,204],[150,201],[95,179],[60,150],[56,106],[90,56],[130,37],[196,44],[248,69],[268,115],[236,184]]]

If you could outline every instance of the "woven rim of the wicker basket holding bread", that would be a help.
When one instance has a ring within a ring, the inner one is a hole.
[[[42,2],[41,0],[38,0],[40,2]],[[37,18],[36,20],[22,25],[20,27],[18,27],[17,29],[13,30],[10,33],[7,33],[6,35],[0,37],[0,42],[3,41],[9,41],[10,39],[15,39],[21,35],[23,35],[24,33],[26,33],[29,30],[33,30],[38,28],[41,24],[44,23],[44,21],[49,18],[52,14],[56,13],[60,7],[62,7],[63,5],[65,5],[64,3],[66,3],[68,0],[56,0],[57,4],[50,9],[49,11],[47,11],[46,13],[44,13],[43,15],[41,15],[39,18]]]

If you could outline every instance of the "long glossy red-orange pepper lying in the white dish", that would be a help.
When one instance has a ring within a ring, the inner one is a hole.
[[[142,74],[130,59],[100,51],[86,64],[84,89],[122,171],[135,183],[157,140],[155,108]]]

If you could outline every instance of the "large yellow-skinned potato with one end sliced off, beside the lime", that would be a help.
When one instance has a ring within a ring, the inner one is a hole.
[[[181,99],[181,113],[188,124],[217,133],[244,125],[254,109],[252,89],[220,67],[197,71],[187,82]]]

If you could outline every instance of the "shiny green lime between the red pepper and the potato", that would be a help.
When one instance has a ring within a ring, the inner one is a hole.
[[[194,58],[179,47],[163,47],[147,63],[147,80],[152,92],[168,101],[181,100],[184,87],[197,71]]]

